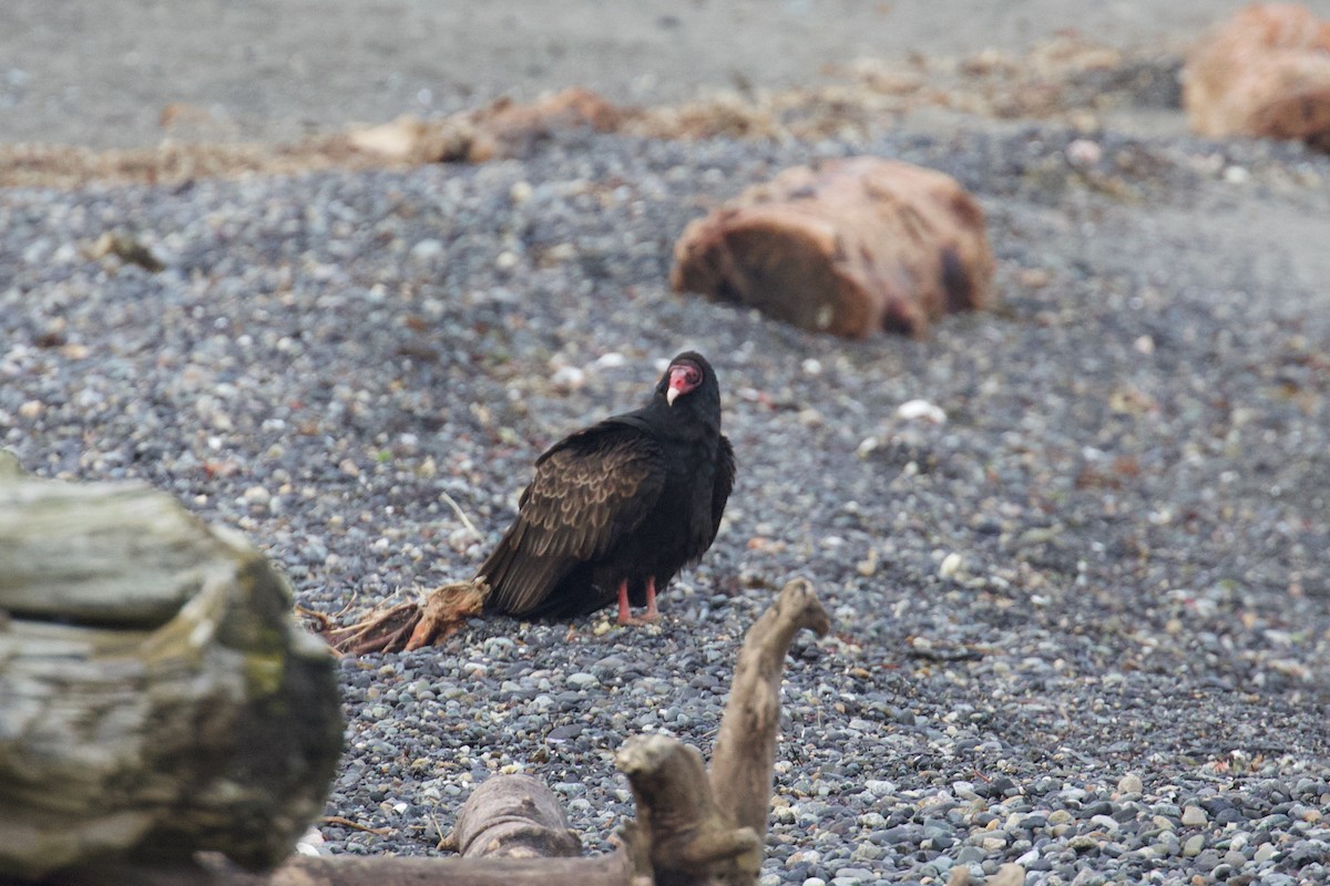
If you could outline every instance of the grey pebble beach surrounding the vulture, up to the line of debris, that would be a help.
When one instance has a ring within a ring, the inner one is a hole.
[[[995,310],[846,343],[668,291],[686,222],[853,153],[976,195]],[[160,270],[100,255],[117,231]],[[632,814],[614,751],[665,731],[709,753],[743,632],[803,575],[834,634],[786,663],[763,886],[1007,862],[1028,886],[1317,885],[1327,244],[1325,154],[979,120],[8,189],[0,446],[170,491],[348,620],[472,575],[535,457],[696,348],[738,481],[662,622],[496,618],[343,660],[327,814],[372,830],[325,824],[322,851],[440,854],[500,772],[609,850]]]

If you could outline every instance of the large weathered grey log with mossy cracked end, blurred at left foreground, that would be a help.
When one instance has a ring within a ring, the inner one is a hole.
[[[0,879],[286,858],[342,748],[334,660],[290,615],[168,495],[0,478]]]

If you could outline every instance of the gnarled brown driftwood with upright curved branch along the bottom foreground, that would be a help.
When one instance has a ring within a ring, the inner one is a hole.
[[[500,776],[476,789],[446,846],[462,858],[297,857],[267,875],[209,862],[193,871],[213,886],[701,886],[757,882],[771,801],[779,720],[781,667],[795,632],[829,630],[809,582],[790,582],[745,639],[721,721],[712,772],[696,748],[638,736],[617,756],[637,802],[637,821],[620,851],[567,857],[577,841],[553,794],[524,776]],[[539,855],[539,857],[537,857]],[[205,859],[206,861],[206,859]],[[66,883],[185,882],[142,869],[102,871]]]

